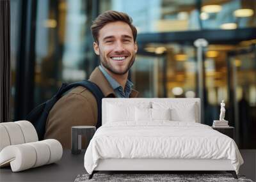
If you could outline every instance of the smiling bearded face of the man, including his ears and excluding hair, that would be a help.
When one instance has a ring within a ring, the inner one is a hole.
[[[102,66],[116,75],[124,75],[129,71],[138,50],[131,27],[121,21],[110,22],[102,27],[93,48],[100,56]]]

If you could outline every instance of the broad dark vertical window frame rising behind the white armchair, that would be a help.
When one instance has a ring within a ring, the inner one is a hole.
[[[33,108],[37,1],[22,1],[19,57],[15,83],[14,120],[24,119]]]

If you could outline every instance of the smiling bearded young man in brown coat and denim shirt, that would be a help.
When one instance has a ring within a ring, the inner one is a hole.
[[[132,98],[138,92],[132,89],[128,72],[138,50],[137,31],[132,19],[125,13],[106,11],[95,19],[91,27],[95,54],[100,66],[93,70],[90,81],[99,86],[105,97]],[[76,87],[52,107],[47,118],[45,139],[57,139],[63,148],[71,148],[71,127],[95,126],[97,102],[84,87]]]

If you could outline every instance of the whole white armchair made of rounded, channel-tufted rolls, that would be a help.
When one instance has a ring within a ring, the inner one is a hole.
[[[61,159],[63,149],[58,140],[38,141],[29,121],[0,123],[0,167],[11,165],[12,171],[23,171]]]

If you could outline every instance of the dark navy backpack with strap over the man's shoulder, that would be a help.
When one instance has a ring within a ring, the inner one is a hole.
[[[96,128],[99,128],[102,125],[101,121],[101,103],[102,98],[104,98],[104,95],[100,88],[93,82],[90,82],[89,80],[83,80],[80,82],[74,82],[72,84],[68,84],[67,82],[63,83],[56,93],[56,95],[52,96],[51,99],[47,100],[44,103],[41,103],[38,105],[35,109],[33,109],[28,116],[26,117],[26,120],[30,121],[33,126],[35,126],[36,133],[38,135],[39,140],[44,139],[45,134],[45,124],[48,118],[48,114],[54,104],[70,89],[77,87],[77,86],[83,86],[88,89],[93,96],[95,96],[97,101],[97,108],[98,108],[98,117],[97,117],[97,124]]]

